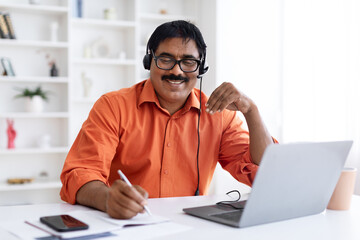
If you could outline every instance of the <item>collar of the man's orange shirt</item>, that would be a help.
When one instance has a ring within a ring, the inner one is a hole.
[[[190,92],[190,95],[189,95],[188,99],[186,100],[184,107],[180,110],[180,112],[185,113],[185,112],[189,111],[192,107],[196,108],[196,109],[200,109],[199,108],[200,101],[197,96],[198,94],[200,94],[200,92],[195,91],[193,89]],[[155,89],[151,83],[150,78],[145,81],[144,87],[140,92],[138,108],[145,102],[153,102],[160,109],[162,109],[162,107],[160,106],[160,103],[159,103],[159,99],[156,96]]]

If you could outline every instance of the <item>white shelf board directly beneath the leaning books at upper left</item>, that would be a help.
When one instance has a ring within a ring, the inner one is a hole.
[[[64,48],[64,49],[67,49],[69,44],[68,44],[68,42],[50,42],[50,41],[36,41],[36,40],[0,39],[0,46]]]

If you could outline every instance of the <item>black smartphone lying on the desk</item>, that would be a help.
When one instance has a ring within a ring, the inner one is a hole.
[[[83,223],[80,220],[66,214],[40,217],[40,222],[48,225],[58,232],[85,230],[89,228],[89,225],[86,223]]]

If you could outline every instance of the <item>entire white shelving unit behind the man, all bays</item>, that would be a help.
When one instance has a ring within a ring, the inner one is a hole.
[[[74,17],[74,1],[0,0],[0,12],[10,13],[17,36],[0,39],[0,57],[10,58],[16,73],[0,76],[0,194],[5,196],[0,205],[60,201],[63,161],[92,105],[106,92],[148,78],[142,59],[155,27],[177,19],[197,23],[199,3],[206,0],[83,0],[81,18]],[[104,19],[108,8],[115,9],[116,19]],[[55,42],[52,22],[59,25]],[[45,54],[56,60],[59,77],[49,77]],[[50,101],[44,112],[27,113],[24,102],[13,98],[15,88],[38,85],[51,91]],[[15,120],[16,149],[6,149],[6,119]],[[38,147],[43,135],[51,136],[48,148]],[[38,180],[44,172],[47,179]],[[15,177],[35,180],[6,184]]]

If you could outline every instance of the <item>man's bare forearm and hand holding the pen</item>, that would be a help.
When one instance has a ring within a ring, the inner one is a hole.
[[[109,188],[101,181],[84,184],[76,194],[76,202],[107,212],[110,217],[129,219],[144,212],[148,193],[140,186],[128,186],[116,180]]]

